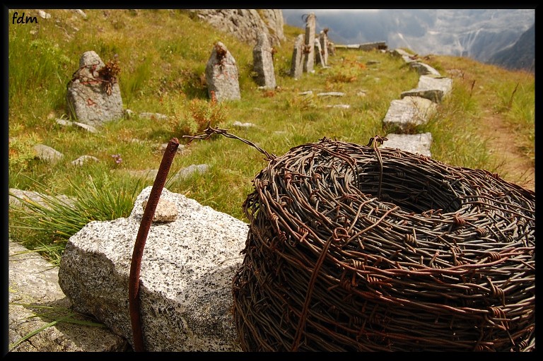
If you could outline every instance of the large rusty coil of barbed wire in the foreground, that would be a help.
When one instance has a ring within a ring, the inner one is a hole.
[[[535,192],[385,140],[265,153],[233,278],[243,350],[535,350]]]

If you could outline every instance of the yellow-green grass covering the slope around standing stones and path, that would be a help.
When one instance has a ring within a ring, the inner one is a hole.
[[[18,10],[33,14],[33,10]],[[286,25],[287,40],[276,47],[276,90],[259,90],[252,78],[252,47],[197,20],[184,10],[88,10],[87,20],[71,11],[46,10],[39,28],[9,25],[9,187],[43,191],[79,199],[74,214],[69,208],[11,208],[10,237],[43,251],[57,263],[69,235],[90,220],[127,216],[135,197],[152,180],[122,177],[112,170],[158,169],[160,143],[176,137],[187,143],[211,122],[257,143],[269,153],[282,155],[302,143],[327,136],[366,145],[375,135],[385,136],[383,118],[390,102],[404,90],[415,88],[419,74],[404,61],[382,52],[337,50],[330,69],[315,67],[295,80],[288,76],[293,43],[302,29]],[[58,23],[57,23],[58,20]],[[78,28],[75,30],[74,27]],[[197,29],[195,31],[194,29]],[[30,30],[37,30],[31,33]],[[216,41],[235,57],[242,100],[211,104],[202,82],[206,61]],[[117,56],[124,107],[134,112],[160,112],[168,121],[130,117],[109,122],[98,134],[76,127],[63,128],[55,119],[69,119],[66,83],[83,52],[93,49],[103,61]],[[366,66],[367,61],[378,64]],[[445,74],[462,69],[450,97],[428,124],[416,131],[431,131],[433,158],[450,165],[498,172],[500,165],[477,128],[484,110],[503,114],[515,131],[515,142],[535,160],[535,79],[465,58],[431,57],[427,63]],[[518,86],[517,86],[518,85]],[[516,88],[516,90],[515,90]],[[313,90],[313,95],[299,95]],[[317,97],[341,91],[344,97]],[[366,96],[358,95],[364,91]],[[326,108],[349,104],[350,109]],[[235,129],[233,122],[251,122],[251,129]],[[135,142],[137,139],[141,142]],[[64,153],[55,164],[33,159],[36,143]],[[95,165],[71,165],[81,155],[99,159]],[[120,155],[117,163],[112,155]],[[206,163],[209,172],[168,183],[168,189],[196,199],[217,211],[246,220],[242,203],[252,191],[252,179],[267,164],[264,156],[245,143],[221,136],[193,141],[176,155],[170,173],[192,164]],[[92,179],[92,180],[91,180]],[[515,182],[515,179],[509,179]],[[113,211],[112,211],[113,210]],[[27,228],[21,228],[27,227]]]

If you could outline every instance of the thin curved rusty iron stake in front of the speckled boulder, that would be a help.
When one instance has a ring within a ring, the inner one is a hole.
[[[144,255],[145,241],[153,223],[153,216],[155,215],[156,206],[158,200],[162,194],[162,189],[166,183],[168,172],[179,147],[179,141],[177,138],[171,138],[168,143],[160,167],[156,174],[153,188],[151,188],[151,194],[147,200],[147,206],[144,210],[144,215],[141,218],[139,224],[138,235],[136,236],[136,243],[134,244],[134,252],[132,253],[132,264],[130,265],[130,276],[128,281],[128,300],[130,319],[132,321],[132,334],[134,336],[134,351],[145,351],[144,348],[144,336],[141,332],[141,317],[140,317],[140,302],[139,302],[139,271],[141,268],[141,257]]]

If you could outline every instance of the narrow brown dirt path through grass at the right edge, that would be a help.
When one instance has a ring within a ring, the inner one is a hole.
[[[486,114],[482,119],[484,134],[489,136],[489,147],[503,162],[500,176],[508,182],[535,191],[535,167],[530,158],[515,147],[514,136],[500,114]]]

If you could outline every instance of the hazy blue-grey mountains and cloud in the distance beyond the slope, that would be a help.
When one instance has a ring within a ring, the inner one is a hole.
[[[303,15],[310,12],[317,32],[328,28],[336,44],[385,41],[420,55],[470,57],[508,69],[535,65],[535,8],[283,9],[285,23],[305,28]]]

